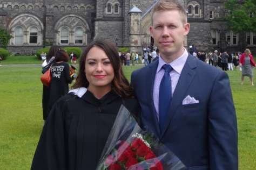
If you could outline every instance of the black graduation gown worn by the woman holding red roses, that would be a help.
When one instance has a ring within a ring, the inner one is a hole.
[[[81,98],[60,98],[44,125],[31,169],[96,169],[121,104],[132,113],[139,111],[136,99],[113,91],[100,100],[88,90]]]

